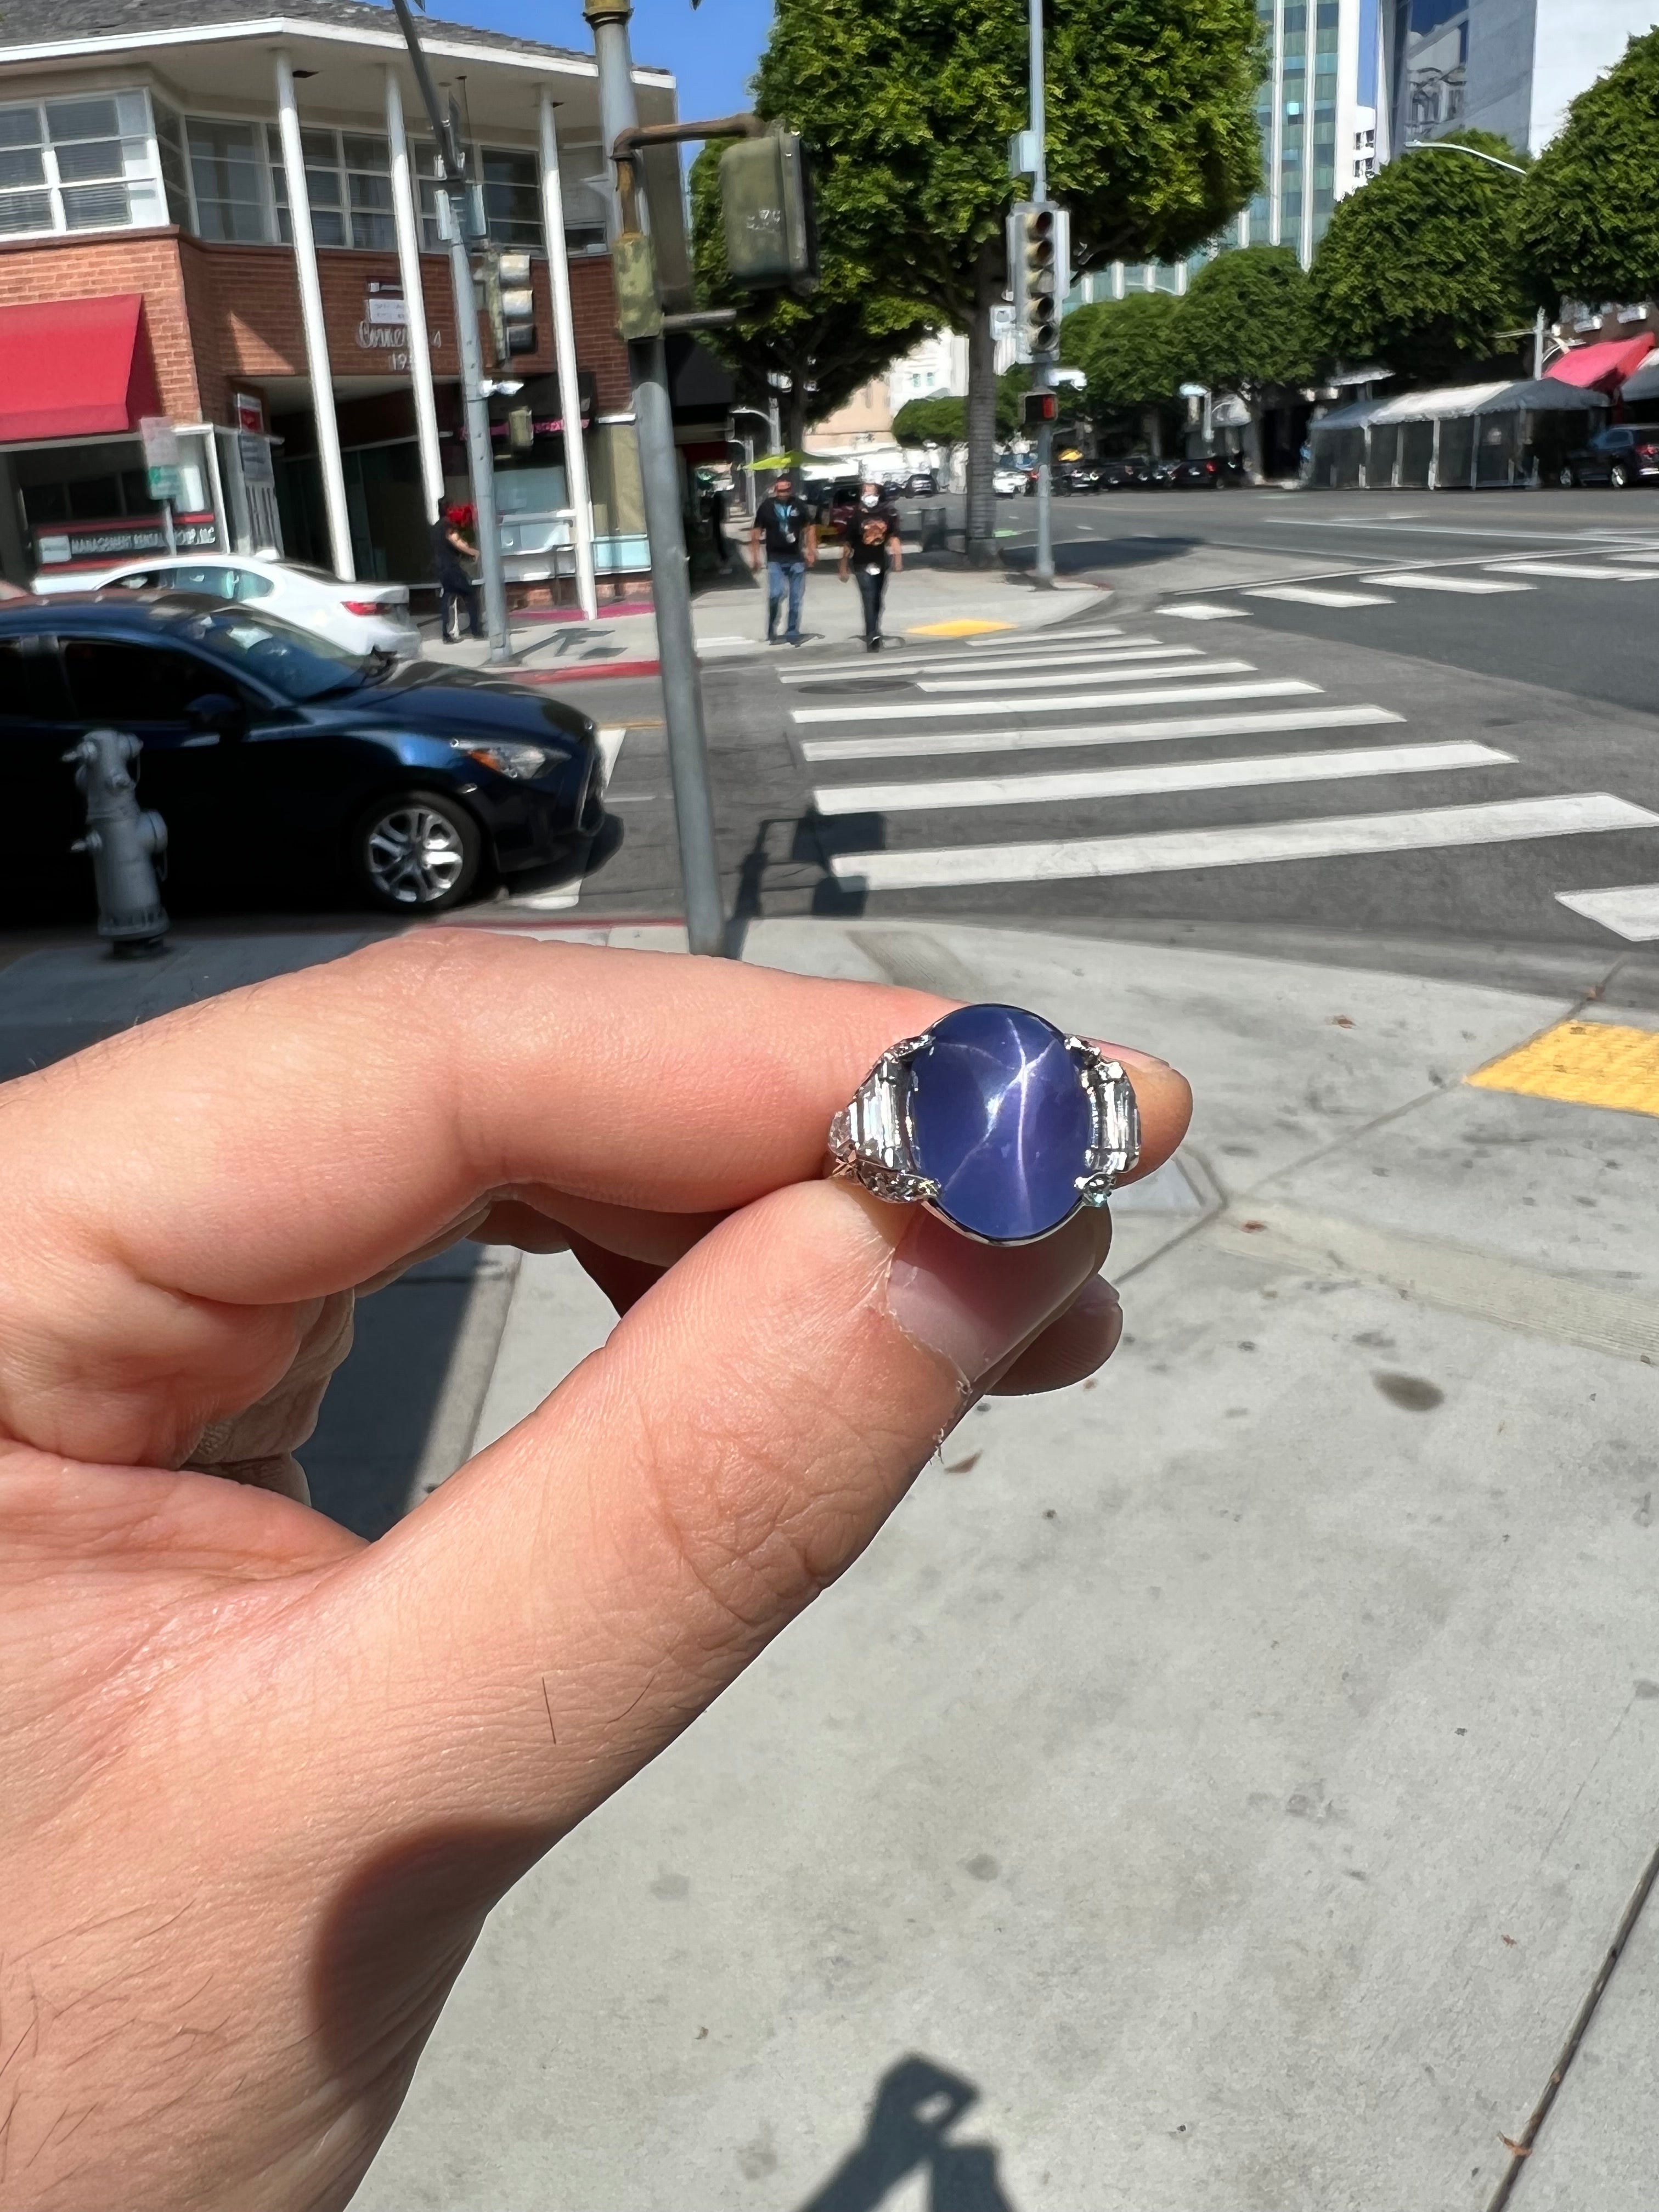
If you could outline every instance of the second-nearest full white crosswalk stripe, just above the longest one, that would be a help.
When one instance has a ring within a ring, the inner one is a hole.
[[[812,794],[818,814],[914,814],[920,807],[1048,805],[1057,799],[1148,799],[1164,792],[1243,792],[1352,776],[1422,776],[1451,768],[1513,768],[1513,752],[1473,739],[1343,745],[1334,752],[1252,752],[1237,761],[1157,761],[1035,776],[953,776],[940,783],[838,783]]]

